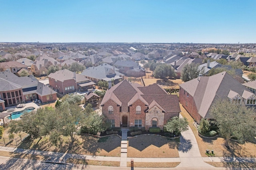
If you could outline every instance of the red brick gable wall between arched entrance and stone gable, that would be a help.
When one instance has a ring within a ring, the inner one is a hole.
[[[141,107],[140,114],[136,114],[136,107]],[[142,127],[145,127],[145,119],[146,119],[146,113],[144,110],[146,110],[148,107],[145,106],[145,104],[141,100],[137,100],[130,106],[130,126],[134,126],[135,119],[141,119],[142,120]],[[131,124],[132,123],[132,124]]]

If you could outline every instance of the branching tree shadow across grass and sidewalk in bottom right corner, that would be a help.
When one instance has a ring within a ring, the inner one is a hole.
[[[224,144],[223,147],[225,147]],[[244,155],[247,155],[247,157],[243,157]],[[230,141],[230,149],[226,148],[226,150],[223,151],[221,162],[224,167],[230,170],[252,169],[256,167],[254,156],[248,154],[247,150],[244,150],[234,141]]]

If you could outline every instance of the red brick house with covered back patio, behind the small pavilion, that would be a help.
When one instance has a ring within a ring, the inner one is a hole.
[[[95,84],[82,74],[76,74],[67,69],[51,73],[48,78],[50,86],[63,94],[75,91],[85,92]]]

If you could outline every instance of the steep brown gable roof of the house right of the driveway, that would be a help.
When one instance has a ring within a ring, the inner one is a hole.
[[[194,98],[198,113],[203,118],[213,118],[208,113],[210,106],[217,99],[228,99],[228,96],[231,95],[230,90],[240,96],[244,91],[250,92],[227,72],[221,72],[210,77],[195,78],[180,84],[180,87]]]

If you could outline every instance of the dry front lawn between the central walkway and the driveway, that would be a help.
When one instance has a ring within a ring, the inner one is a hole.
[[[179,142],[160,136],[143,135],[128,139],[127,157],[174,158],[179,157]]]

